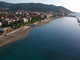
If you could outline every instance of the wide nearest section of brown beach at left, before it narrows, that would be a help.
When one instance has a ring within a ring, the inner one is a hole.
[[[21,38],[24,38],[25,36],[27,36],[28,32],[31,30],[32,28],[29,27],[27,29],[25,28],[21,28],[18,31],[15,32],[10,32],[8,33],[7,36],[2,36],[0,37],[0,47],[9,44],[11,42],[14,42],[16,40],[19,40]]]

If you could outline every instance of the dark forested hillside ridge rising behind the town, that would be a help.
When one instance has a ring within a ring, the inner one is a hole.
[[[70,10],[62,7],[62,6],[55,6],[55,5],[47,5],[42,3],[7,3],[0,1],[0,10],[1,9],[9,9],[9,10],[25,10],[25,11],[37,11],[37,12],[65,12],[69,13]]]

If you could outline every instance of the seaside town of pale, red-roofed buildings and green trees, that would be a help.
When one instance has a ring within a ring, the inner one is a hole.
[[[64,16],[58,12],[0,11],[0,34],[50,17]]]

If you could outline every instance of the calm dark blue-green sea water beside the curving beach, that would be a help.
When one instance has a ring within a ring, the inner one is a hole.
[[[80,26],[62,17],[32,29],[28,36],[0,48],[0,60],[80,60]]]

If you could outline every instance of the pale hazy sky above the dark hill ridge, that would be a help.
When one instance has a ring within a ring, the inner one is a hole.
[[[64,6],[71,11],[80,12],[80,0],[0,0],[11,3],[45,3],[45,4],[53,4],[57,6]]]

